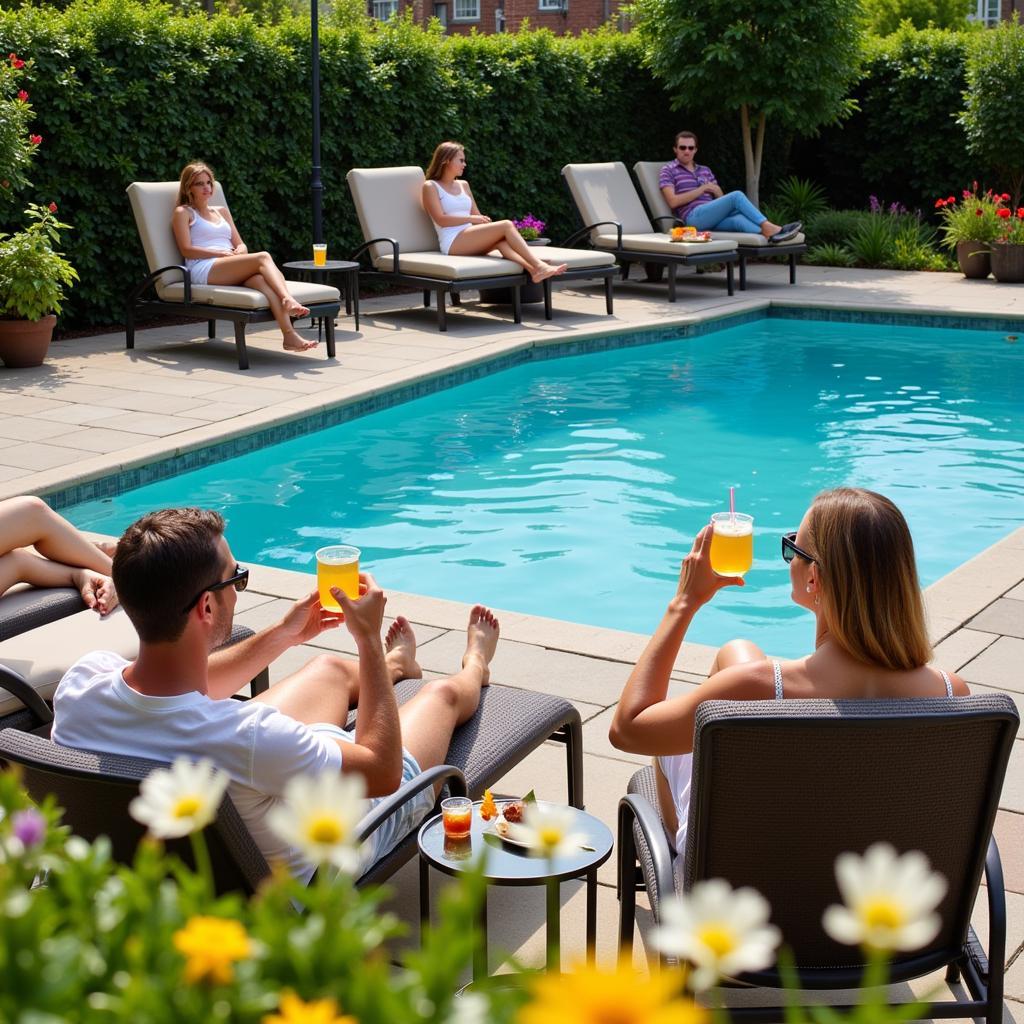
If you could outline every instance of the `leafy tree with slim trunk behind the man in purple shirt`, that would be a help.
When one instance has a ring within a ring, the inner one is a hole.
[[[769,119],[813,134],[856,108],[858,0],[636,0],[646,60],[675,110],[739,114],[746,195],[755,204]]]

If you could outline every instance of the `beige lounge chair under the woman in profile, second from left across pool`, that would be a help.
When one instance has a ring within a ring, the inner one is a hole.
[[[437,232],[421,205],[424,176],[419,167],[356,167],[346,175],[365,242],[352,254],[367,260],[359,275],[369,281],[411,285],[423,290],[424,305],[433,292],[437,302],[437,328],[447,330],[445,296],[454,301],[465,291],[504,289],[512,291],[512,318],[522,323],[520,288],[529,282],[518,263],[500,256],[444,256],[437,248]],[[603,279],[604,302],[612,311],[611,282],[614,260],[587,249],[549,246],[544,257],[568,268],[559,281]],[[551,319],[552,279],[543,283],[544,315]]]

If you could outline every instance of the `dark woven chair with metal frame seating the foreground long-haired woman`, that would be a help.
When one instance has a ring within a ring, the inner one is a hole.
[[[841,902],[836,857],[884,840],[922,850],[949,891],[942,926],[925,949],[899,953],[892,982],[940,968],[970,998],[933,1005],[927,1018],[1002,1012],[1006,894],[990,840],[1019,726],[1005,694],[889,700],[710,700],[696,717],[684,886],[721,878],[753,886],[792,950],[805,988],[860,984],[863,950],[824,932]],[[652,768],[637,772],[618,806],[620,938],[633,943],[635,892],[646,888],[655,921],[675,891],[674,844],[658,811]],[[639,869],[638,869],[639,864]],[[971,928],[985,871],[986,951]],[[735,979],[779,988],[772,967]],[[730,1008],[737,1021],[780,1021],[779,1008]]]

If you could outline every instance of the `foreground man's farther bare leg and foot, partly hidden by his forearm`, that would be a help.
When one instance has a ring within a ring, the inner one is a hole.
[[[423,670],[416,662],[416,637],[407,618],[398,615],[391,624],[384,648],[392,682],[422,677]],[[344,725],[349,709],[359,702],[359,663],[339,654],[318,654],[253,700],[272,705],[306,725]]]

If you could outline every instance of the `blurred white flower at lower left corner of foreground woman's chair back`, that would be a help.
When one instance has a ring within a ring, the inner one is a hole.
[[[782,936],[768,924],[770,916],[771,907],[759,892],[734,890],[711,879],[665,901],[651,941],[669,956],[693,965],[689,984],[699,992],[723,977],[760,971],[775,962]]]

